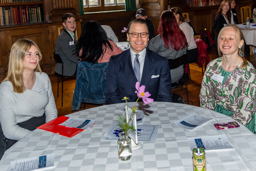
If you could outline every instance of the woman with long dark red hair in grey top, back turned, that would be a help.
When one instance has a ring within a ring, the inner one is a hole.
[[[159,35],[150,40],[148,49],[167,59],[175,59],[186,54],[187,40],[172,12],[163,11],[158,33]],[[173,83],[178,82],[183,74],[183,66],[170,70]]]

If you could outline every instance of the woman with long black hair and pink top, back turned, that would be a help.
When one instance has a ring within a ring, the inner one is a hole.
[[[98,22],[88,21],[78,39],[76,53],[81,61],[103,63],[110,57],[122,53],[122,50],[106,36]]]

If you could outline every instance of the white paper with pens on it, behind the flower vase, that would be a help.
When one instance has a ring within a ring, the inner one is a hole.
[[[156,140],[159,125],[137,125],[137,129],[143,130],[138,131],[138,141],[153,142]],[[118,124],[111,124],[108,131],[101,137],[101,140],[118,140],[117,134],[114,134],[116,130],[120,130]]]

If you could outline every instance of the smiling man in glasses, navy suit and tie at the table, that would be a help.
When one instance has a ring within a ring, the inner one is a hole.
[[[136,101],[136,82],[145,86],[154,101],[172,102],[172,80],[166,57],[147,50],[148,29],[144,19],[134,19],[127,28],[131,49],[112,56],[106,72],[106,101],[121,103],[123,97]],[[141,99],[140,99],[141,100]]]

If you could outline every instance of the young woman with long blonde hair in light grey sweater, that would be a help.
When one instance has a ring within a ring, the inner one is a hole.
[[[0,158],[36,127],[57,117],[51,82],[42,73],[34,41],[17,40],[10,52],[7,77],[0,85]]]

